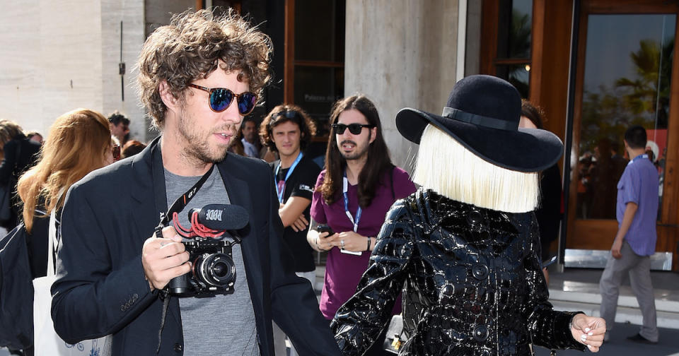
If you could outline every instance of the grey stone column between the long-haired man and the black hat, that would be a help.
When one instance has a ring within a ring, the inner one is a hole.
[[[375,102],[391,158],[409,172],[417,145],[398,133],[396,113],[441,114],[455,84],[457,31],[457,0],[347,0],[344,95]]]

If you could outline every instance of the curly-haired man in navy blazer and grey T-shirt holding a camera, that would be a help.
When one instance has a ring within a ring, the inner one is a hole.
[[[339,355],[311,285],[283,247],[271,169],[227,154],[269,81],[271,48],[233,11],[182,13],[146,40],[141,102],[162,135],[66,196],[52,287],[54,328],[66,342],[111,335],[112,355],[273,356],[274,320],[304,355]],[[108,188],[120,182],[125,189]],[[192,235],[181,226],[209,232],[187,212],[210,203],[248,213],[245,227],[221,240],[231,249],[233,285],[204,298],[167,292],[187,273],[226,275],[226,259],[189,261],[182,243]]]

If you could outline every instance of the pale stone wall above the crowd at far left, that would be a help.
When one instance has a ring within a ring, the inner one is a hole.
[[[144,42],[143,0],[7,1],[0,13],[0,117],[47,131],[60,114],[86,107],[132,119],[145,136],[130,75]],[[125,100],[118,74],[123,21]]]

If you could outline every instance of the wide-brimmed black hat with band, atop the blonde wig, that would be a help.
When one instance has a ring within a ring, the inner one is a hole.
[[[520,172],[537,172],[554,165],[564,145],[550,131],[519,129],[521,95],[494,76],[468,76],[455,83],[443,114],[406,107],[396,114],[396,127],[419,144],[427,124],[448,133],[483,160]]]

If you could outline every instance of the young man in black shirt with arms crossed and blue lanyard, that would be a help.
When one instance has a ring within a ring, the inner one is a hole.
[[[314,251],[306,243],[306,232],[313,186],[320,167],[305,153],[315,131],[311,117],[297,105],[274,107],[260,126],[265,146],[280,156],[269,165],[276,180],[278,213],[285,227],[283,241],[294,256],[295,273],[312,285],[316,279],[316,264]],[[286,355],[284,345],[279,345],[279,341],[284,340],[283,334],[274,326],[274,338],[277,337],[277,355]],[[290,351],[291,356],[297,355],[294,348]]]

